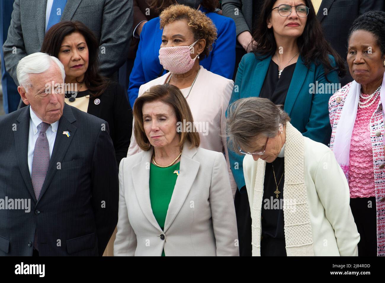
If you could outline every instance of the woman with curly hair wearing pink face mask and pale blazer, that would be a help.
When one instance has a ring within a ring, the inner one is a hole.
[[[163,33],[159,60],[169,72],[141,85],[139,97],[150,87],[159,84],[175,85],[181,90],[194,117],[194,125],[178,121],[181,123],[180,131],[196,131],[201,139],[201,147],[223,152],[234,196],[236,186],[225,137],[225,112],[234,82],[200,65],[200,60],[208,57],[213,48],[216,27],[204,13],[184,5],[172,5],[163,10],[160,25]],[[132,134],[127,156],[140,150]]]

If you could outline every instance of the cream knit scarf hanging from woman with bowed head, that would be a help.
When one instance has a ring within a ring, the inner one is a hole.
[[[253,256],[261,255],[261,209],[266,162],[258,159],[251,211]],[[304,142],[302,134],[286,123],[285,183],[283,185],[286,254],[314,256],[307,189],[305,185]],[[286,203],[286,204],[285,204]],[[290,206],[288,204],[290,203]]]

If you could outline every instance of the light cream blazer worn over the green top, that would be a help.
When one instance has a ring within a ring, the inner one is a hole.
[[[164,231],[151,210],[152,149],[122,159],[114,256],[238,256],[235,209],[220,152],[186,144]]]

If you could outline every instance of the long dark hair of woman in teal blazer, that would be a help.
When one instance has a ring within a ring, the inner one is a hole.
[[[253,38],[256,44],[253,45],[253,52],[258,59],[264,59],[273,56],[277,49],[273,28],[267,27],[267,22],[271,18],[271,10],[276,0],[265,0],[260,8],[258,25],[255,25]],[[323,30],[314,12],[313,4],[310,0],[304,1],[309,7],[305,29],[297,39],[298,48],[302,60],[306,67],[310,68],[310,64],[322,64],[325,69],[325,75],[331,70],[338,69],[338,75],[343,77],[346,73],[345,65],[340,55],[335,52],[331,45],[323,36]],[[275,10],[274,10],[275,11]],[[329,55],[332,55],[335,60],[331,62]]]

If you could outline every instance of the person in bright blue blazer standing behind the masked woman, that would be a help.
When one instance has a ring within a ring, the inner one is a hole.
[[[208,27],[207,23],[204,23],[206,18],[211,20],[211,23],[216,28],[216,38],[213,38],[215,42],[213,44],[213,41],[206,39],[206,46],[212,47],[206,50],[206,54],[199,55],[199,64],[202,65],[204,69],[209,70],[214,74],[232,79],[235,67],[236,44],[234,20],[216,13],[218,9],[215,7],[218,6],[218,0],[149,1],[152,10],[159,13],[167,11],[163,14],[164,17],[170,17],[168,14],[173,12],[176,15],[185,13],[186,10],[183,10],[182,5],[175,6],[173,4],[184,4],[187,8],[191,8],[194,10],[194,17],[198,15],[198,12],[205,15],[206,17],[203,19],[201,16],[198,16],[196,19],[198,22],[203,21],[204,30]],[[127,90],[131,107],[134,107],[134,102],[138,97],[139,87],[141,85],[146,84],[167,72],[167,69],[162,66],[158,58],[159,46],[162,44],[163,27],[164,25],[161,26],[160,17],[153,18],[143,25]],[[199,37],[199,33],[195,36]]]

